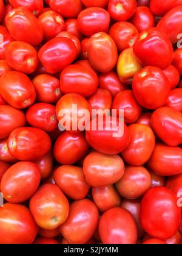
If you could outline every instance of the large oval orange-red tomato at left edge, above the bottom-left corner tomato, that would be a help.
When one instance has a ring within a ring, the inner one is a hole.
[[[40,182],[41,174],[35,163],[19,162],[2,177],[1,193],[6,201],[19,204],[33,196]]]

